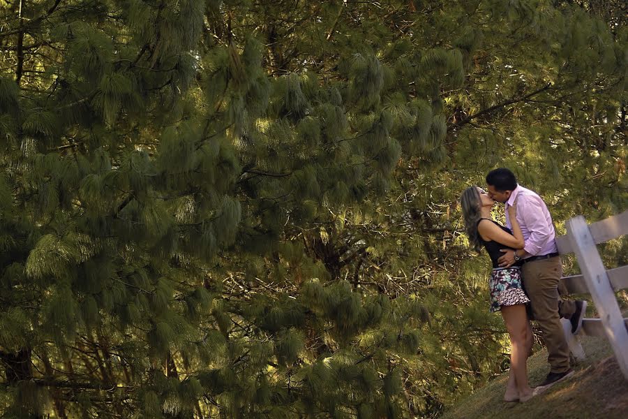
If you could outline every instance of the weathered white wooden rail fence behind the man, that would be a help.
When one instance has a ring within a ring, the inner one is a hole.
[[[583,216],[567,221],[567,235],[556,237],[560,254],[576,253],[582,274],[562,278],[567,291],[589,293],[599,318],[585,318],[585,335],[606,337],[628,380],[628,318],[623,318],[615,292],[628,288],[628,265],[606,270],[596,244],[628,234],[628,211],[587,225]],[[585,358],[580,342],[571,335],[571,323],[563,321],[567,343],[576,359]]]

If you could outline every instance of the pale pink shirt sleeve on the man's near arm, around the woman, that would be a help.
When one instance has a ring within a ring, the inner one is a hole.
[[[525,196],[525,199],[519,199],[517,207],[517,216],[521,216],[530,232],[523,249],[536,256],[551,240],[553,234],[553,226],[548,223],[545,216],[545,203],[536,196]]]

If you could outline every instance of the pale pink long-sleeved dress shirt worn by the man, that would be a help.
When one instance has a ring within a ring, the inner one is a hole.
[[[506,210],[517,198],[517,221],[521,226],[525,241],[523,249],[532,256],[558,252],[552,216],[541,197],[534,191],[517,185],[506,201]],[[506,226],[512,230],[508,211],[506,211]]]

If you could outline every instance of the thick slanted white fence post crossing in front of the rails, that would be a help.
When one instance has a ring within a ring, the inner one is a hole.
[[[606,337],[615,351],[615,358],[628,379],[628,331],[606,268],[583,216],[567,221],[567,237],[578,258],[578,265],[604,325]]]

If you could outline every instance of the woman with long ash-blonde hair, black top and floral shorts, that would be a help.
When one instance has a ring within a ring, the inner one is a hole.
[[[493,221],[491,208],[495,201],[478,186],[471,186],[461,198],[465,230],[474,249],[486,249],[493,261],[491,274],[491,311],[501,311],[510,335],[510,375],[504,401],[527,402],[541,392],[541,388],[530,388],[525,365],[532,348],[532,328],[525,311],[530,302],[521,285],[521,269],[518,266],[502,268],[498,258],[501,249],[523,249],[523,234],[516,218],[516,202],[508,208],[512,231]]]

